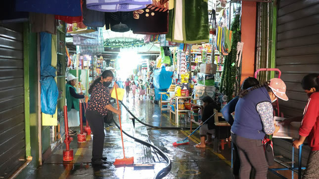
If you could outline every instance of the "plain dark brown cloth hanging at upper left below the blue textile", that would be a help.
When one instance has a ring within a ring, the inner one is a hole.
[[[56,21],[52,14],[30,12],[31,31],[33,33],[47,32],[56,34]]]

